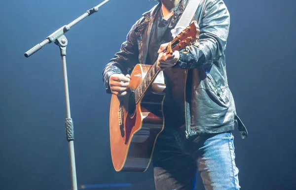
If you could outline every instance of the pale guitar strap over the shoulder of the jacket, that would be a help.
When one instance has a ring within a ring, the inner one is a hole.
[[[187,1],[188,2],[185,10],[183,11],[178,23],[176,24],[176,27],[171,30],[173,37],[182,32],[191,23],[192,17],[194,16],[196,9],[200,3],[200,0]]]

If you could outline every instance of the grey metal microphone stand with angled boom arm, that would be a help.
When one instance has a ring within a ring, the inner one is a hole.
[[[69,145],[69,154],[70,154],[70,168],[71,168],[71,179],[72,179],[72,190],[77,190],[77,180],[76,180],[76,168],[75,168],[75,155],[74,155],[74,126],[73,121],[71,118],[71,111],[70,111],[70,100],[69,100],[69,89],[68,89],[68,76],[67,76],[67,65],[66,65],[66,47],[68,44],[68,40],[64,35],[68,32],[71,27],[75,24],[90,16],[91,14],[98,12],[99,8],[103,6],[110,0],[104,0],[99,5],[93,7],[86,11],[83,15],[75,19],[68,25],[63,26],[62,28],[58,29],[56,32],[50,34],[44,41],[38,43],[36,46],[31,48],[29,51],[25,53],[25,57],[28,58],[32,54],[36,53],[40,50],[44,45],[54,42],[56,45],[59,46],[61,57],[62,57],[62,64],[63,64],[63,74],[64,74],[64,88],[65,88],[65,99],[66,99],[66,137]]]

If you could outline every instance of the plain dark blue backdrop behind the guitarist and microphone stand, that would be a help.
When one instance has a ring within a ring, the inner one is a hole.
[[[24,53],[101,0],[0,2],[0,189],[71,188],[59,48]],[[225,0],[231,15],[227,73],[237,112],[249,130],[235,131],[243,190],[295,190],[295,0]],[[67,33],[67,64],[78,185],[132,183],[152,190],[146,173],[113,170],[110,95],[102,69],[130,27],[155,4],[111,0]],[[202,186],[200,181],[198,187]]]

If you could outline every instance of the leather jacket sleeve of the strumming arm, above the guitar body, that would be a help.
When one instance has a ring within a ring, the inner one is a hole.
[[[135,33],[136,24],[128,32],[126,41],[121,44],[119,52],[114,55],[103,69],[103,82],[108,94],[111,94],[109,85],[110,76],[114,73],[126,75],[139,63],[139,48]]]

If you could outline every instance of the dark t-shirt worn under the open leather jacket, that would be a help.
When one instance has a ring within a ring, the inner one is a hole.
[[[171,19],[164,20],[161,10],[158,11],[150,34],[147,63],[154,64],[158,58],[161,44],[173,40],[168,27]],[[166,68],[164,71],[166,84],[164,99],[164,116],[166,127],[181,127],[185,124],[185,71],[180,68]]]

